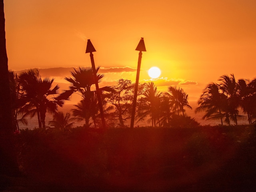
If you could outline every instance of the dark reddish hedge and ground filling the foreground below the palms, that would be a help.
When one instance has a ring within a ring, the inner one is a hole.
[[[254,126],[24,130],[0,191],[256,191]]]

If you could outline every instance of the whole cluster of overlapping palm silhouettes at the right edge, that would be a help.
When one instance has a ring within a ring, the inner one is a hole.
[[[248,124],[252,124],[256,114],[255,79],[236,81],[234,74],[231,74],[221,76],[219,81],[220,84],[210,83],[206,86],[195,112],[206,112],[203,119],[220,119],[222,125],[223,119],[228,125],[230,120],[237,125],[238,118],[244,118],[239,114],[239,109],[242,109],[247,114]]]

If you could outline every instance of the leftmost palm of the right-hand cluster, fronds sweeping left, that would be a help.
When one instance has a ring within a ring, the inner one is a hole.
[[[220,86],[216,83],[210,83],[204,89],[203,94],[198,100],[199,107],[196,108],[195,112],[206,111],[206,114],[202,117],[203,119],[220,119],[223,125],[223,109],[226,102],[226,96],[220,92]]]

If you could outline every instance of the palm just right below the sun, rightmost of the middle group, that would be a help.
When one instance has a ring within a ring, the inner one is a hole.
[[[177,112],[178,115],[181,111],[182,115],[185,116],[184,107],[192,109],[188,104],[188,94],[186,94],[182,88],[177,88],[177,86],[168,87],[168,92],[170,92],[171,105],[174,106],[173,110]]]

